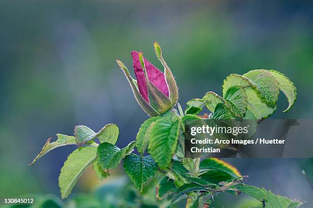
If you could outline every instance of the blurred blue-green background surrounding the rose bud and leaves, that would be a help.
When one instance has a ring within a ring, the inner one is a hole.
[[[116,123],[118,146],[135,140],[148,117],[115,60],[131,70],[130,51],[142,50],[162,68],[154,40],[176,77],[183,107],[207,91],[220,94],[231,73],[265,68],[282,72],[298,88],[294,108],[281,113],[287,104],[280,95],[272,118],[311,119],[312,11],[310,1],[1,1],[1,198],[59,197],[58,174],[74,146],[27,166],[56,133],[73,135],[75,125],[98,131]],[[301,173],[304,169],[313,180],[312,159],[228,161],[250,175],[248,184],[312,207],[312,188]],[[74,194],[93,192],[123,174],[119,168],[99,181],[87,170]],[[250,197],[215,200],[216,207],[234,207]]]

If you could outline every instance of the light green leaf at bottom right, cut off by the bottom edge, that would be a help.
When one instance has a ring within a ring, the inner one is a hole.
[[[267,200],[265,201],[266,208],[297,208],[303,202],[298,200],[292,200],[287,197],[278,196],[273,194],[271,191],[266,191],[262,188],[262,191],[266,194]]]

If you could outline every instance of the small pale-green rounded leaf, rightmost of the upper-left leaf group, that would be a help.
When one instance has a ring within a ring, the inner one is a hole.
[[[97,133],[97,137],[101,143],[107,142],[113,145],[115,145],[118,136],[119,127],[116,124],[107,124]]]

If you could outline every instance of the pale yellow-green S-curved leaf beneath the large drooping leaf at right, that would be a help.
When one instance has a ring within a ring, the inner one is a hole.
[[[268,105],[266,101],[261,98],[256,84],[247,77],[241,75],[231,74],[223,81],[223,95],[225,95],[226,91],[234,85],[242,86],[245,90],[245,94],[247,94],[248,97],[247,109],[252,112],[256,119],[265,119],[272,115],[276,110],[276,106],[273,107]]]

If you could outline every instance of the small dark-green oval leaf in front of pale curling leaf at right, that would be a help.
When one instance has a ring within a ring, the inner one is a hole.
[[[224,95],[224,99],[227,101],[227,107],[237,116],[242,118],[247,107],[247,95],[245,90],[238,85],[228,88]]]

